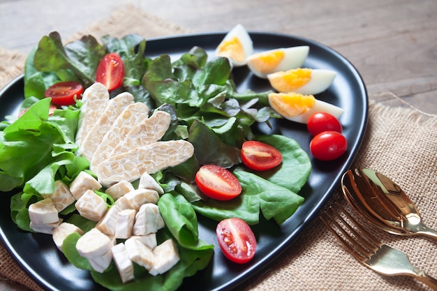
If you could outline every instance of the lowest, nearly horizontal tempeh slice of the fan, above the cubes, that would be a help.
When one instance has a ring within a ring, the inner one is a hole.
[[[135,181],[145,172],[153,174],[166,167],[184,163],[193,154],[193,144],[185,140],[154,142],[127,153],[110,156],[98,165],[98,181],[105,186],[122,180]]]

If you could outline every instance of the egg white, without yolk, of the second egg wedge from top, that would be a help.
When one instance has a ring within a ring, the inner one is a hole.
[[[256,68],[254,68],[253,65],[251,64],[251,59],[256,58],[258,54],[268,54],[270,52],[275,52],[277,50],[284,52],[284,58],[279,62],[278,66],[276,66],[274,70],[263,73],[257,70]],[[253,72],[254,75],[262,79],[266,79],[268,74],[279,72],[281,70],[292,70],[301,67],[304,64],[306,57],[308,57],[308,54],[309,54],[308,45],[267,50],[265,52],[260,52],[249,56],[247,58],[247,66]]]

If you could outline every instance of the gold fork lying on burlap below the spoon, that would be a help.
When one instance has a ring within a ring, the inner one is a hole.
[[[339,209],[339,210],[336,210]],[[343,217],[346,217],[348,223]],[[320,215],[320,220],[358,262],[384,276],[411,276],[437,290],[437,279],[411,264],[408,256],[382,244],[337,202]],[[334,225],[334,227],[332,226]]]

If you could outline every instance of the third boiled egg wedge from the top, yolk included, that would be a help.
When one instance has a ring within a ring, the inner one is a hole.
[[[267,79],[280,93],[315,95],[325,91],[332,84],[335,76],[334,70],[297,68],[269,74]]]

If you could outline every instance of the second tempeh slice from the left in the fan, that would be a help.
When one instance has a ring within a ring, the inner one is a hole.
[[[133,103],[133,96],[128,92],[123,92],[108,101],[105,110],[80,144],[82,156],[91,161],[94,152],[114,124],[115,119],[131,103]]]

